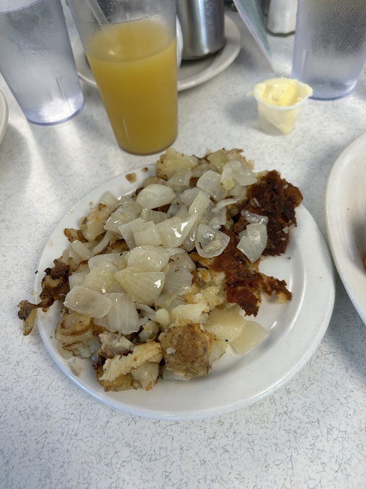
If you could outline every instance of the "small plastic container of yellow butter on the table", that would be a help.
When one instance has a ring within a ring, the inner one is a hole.
[[[271,78],[254,87],[259,125],[270,135],[290,133],[305,101],[313,90],[293,78]]]

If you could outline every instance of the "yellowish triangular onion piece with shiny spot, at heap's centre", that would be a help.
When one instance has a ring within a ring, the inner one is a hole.
[[[164,286],[163,272],[135,272],[126,268],[115,274],[123,289],[136,302],[152,306]]]

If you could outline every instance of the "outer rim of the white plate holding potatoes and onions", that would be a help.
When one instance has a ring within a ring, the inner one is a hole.
[[[144,173],[144,176],[148,176],[151,173],[152,168],[155,168],[155,165],[144,165],[144,167],[149,168],[149,173]],[[141,171],[143,167],[134,169],[135,172]],[[86,194],[81,200],[79,200],[70,210],[69,212],[58,222],[57,226],[54,228],[53,232],[51,233],[50,237],[47,240],[47,243],[45,244],[45,247],[41,253],[41,258],[39,262],[38,269],[40,268],[40,265],[44,259],[44,255],[47,253],[48,250],[48,244],[50,241],[53,240],[54,233],[58,230],[59,227],[63,227],[61,225],[63,221],[70,215],[74,214],[75,209],[81,205],[84,201],[90,201],[92,196],[96,194],[98,191],[104,192],[106,191],[105,187],[109,187],[112,181],[121,181],[123,182],[123,185],[120,185],[121,187],[128,187],[130,191],[133,191],[136,188],[136,185],[139,184],[139,181],[136,183],[129,183],[125,179],[125,175],[130,172],[124,172],[116,177],[110,178],[107,181],[103,182],[101,185],[90,191],[88,194]],[[124,179],[123,179],[124,178]],[[102,188],[101,188],[102,187]],[[129,190],[121,190],[123,193],[121,195],[126,195],[129,193]],[[93,198],[92,200],[95,200]],[[45,345],[46,350],[50,354],[50,356],[53,358],[57,366],[60,368],[60,370],[66,375],[66,377],[70,378],[76,385],[81,387],[81,389],[84,392],[87,392],[89,395],[92,397],[102,401],[104,404],[113,407],[117,410],[123,411],[125,413],[131,414],[131,415],[137,415],[137,416],[142,416],[145,418],[150,418],[150,419],[159,419],[159,420],[167,420],[167,419],[174,419],[174,420],[196,420],[196,419],[204,419],[204,418],[209,418],[213,416],[218,416],[218,415],[223,415],[227,414],[229,412],[236,411],[238,409],[243,409],[245,407],[248,407],[249,405],[254,404],[260,399],[263,399],[265,396],[271,394],[275,390],[277,390],[279,387],[284,385],[288,380],[290,380],[294,375],[296,375],[297,372],[299,372],[305,365],[305,363],[309,360],[309,358],[314,354],[316,349],[318,348],[320,342],[322,341],[326,329],[328,327],[331,314],[333,311],[333,306],[334,306],[334,298],[335,298],[335,278],[334,278],[334,268],[332,266],[332,261],[330,258],[330,253],[329,250],[326,246],[325,239],[315,222],[314,218],[311,216],[310,212],[305,208],[303,204],[300,204],[298,209],[301,209],[301,212],[304,213],[306,218],[310,220],[311,224],[314,226],[314,231],[316,232],[316,238],[319,239],[321,243],[321,251],[320,255],[322,257],[322,264],[325,269],[325,273],[328,273],[327,280],[329,281],[329,288],[327,289],[327,301],[326,301],[326,307],[322,309],[322,320],[320,321],[320,324],[317,324],[317,330],[312,337],[311,343],[306,347],[305,351],[302,351],[300,358],[292,364],[292,366],[285,372],[285,374],[281,378],[277,378],[275,382],[270,382],[270,385],[267,386],[266,389],[264,389],[262,392],[257,392],[255,395],[245,399],[245,400],[236,400],[231,403],[227,403],[225,405],[221,406],[214,406],[211,408],[203,409],[203,410],[197,410],[193,412],[175,412],[175,413],[170,413],[170,412],[165,412],[160,410],[152,410],[151,408],[146,408],[146,407],[136,407],[134,405],[126,404],[120,400],[116,400],[114,398],[108,398],[108,393],[103,393],[104,396],[98,395],[97,392],[93,392],[90,390],[87,386],[83,385],[75,375],[72,374],[70,368],[66,367],[61,355],[55,351],[54,348],[51,346],[51,342],[49,341],[48,334],[49,332],[44,331],[44,327],[41,326],[40,323],[40,317],[37,317],[37,324],[39,325],[39,330],[41,333],[41,338],[43,341],[43,344]],[[49,262],[48,262],[49,265]],[[48,266],[47,265],[47,266]],[[36,293],[39,292],[40,290],[40,279],[41,274],[37,274],[35,277],[35,285],[34,285],[34,290]],[[324,317],[323,317],[324,316]],[[268,383],[268,382],[267,382]],[[127,391],[128,392],[128,391]],[[105,396],[106,394],[106,396]]]

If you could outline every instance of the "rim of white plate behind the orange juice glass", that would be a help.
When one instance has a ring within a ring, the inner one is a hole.
[[[227,42],[224,47],[218,53],[215,53],[210,56],[212,58],[212,63],[210,66],[204,68],[201,72],[196,75],[192,75],[190,77],[185,78],[184,80],[178,80],[178,91],[187,90],[193,87],[197,87],[202,83],[214,78],[216,75],[220,74],[227,67],[229,67],[236,57],[238,56],[241,50],[241,32],[236,23],[228,16],[224,16],[224,29],[225,29],[225,37],[228,36]],[[75,64],[77,67],[77,72],[79,78],[85,82],[89,87],[93,87],[98,89],[97,83],[93,78],[86,76],[84,70],[81,70],[81,64],[83,65],[85,62],[81,60],[81,47],[82,47],[82,56],[84,57],[84,48],[81,43],[81,39],[79,35],[74,39],[71,44],[73,55],[75,58]],[[227,57],[224,59],[224,62],[221,62],[223,59],[223,54]],[[220,63],[221,62],[221,63]],[[215,66],[212,69],[212,66]],[[216,66],[217,65],[217,66]],[[90,69],[90,68],[89,68]]]

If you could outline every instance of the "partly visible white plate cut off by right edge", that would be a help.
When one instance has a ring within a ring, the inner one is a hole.
[[[325,191],[325,218],[338,273],[366,324],[366,134],[333,165]]]

